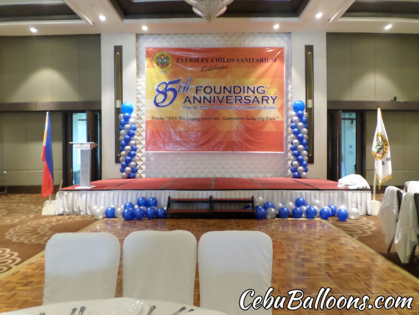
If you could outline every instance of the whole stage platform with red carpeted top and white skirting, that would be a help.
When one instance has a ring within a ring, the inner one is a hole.
[[[77,186],[61,188],[56,194],[56,215],[91,215],[93,206],[121,206],[136,203],[139,197],[155,197],[166,207],[170,199],[249,199],[286,204],[303,197],[310,204],[318,199],[322,205],[356,207],[361,215],[371,214],[371,191],[338,188],[337,182],[322,179],[264,178],[163,178],[134,180],[111,179],[91,182],[90,189]]]

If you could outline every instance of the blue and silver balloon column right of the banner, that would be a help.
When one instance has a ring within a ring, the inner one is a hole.
[[[304,111],[306,105],[302,100],[293,103],[294,111],[291,113],[291,129],[293,130],[293,140],[290,150],[292,155],[291,174],[294,178],[307,178],[308,172],[308,129],[307,112]]]

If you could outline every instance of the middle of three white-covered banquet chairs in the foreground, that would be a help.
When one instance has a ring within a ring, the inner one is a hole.
[[[132,232],[122,250],[122,295],[194,304],[196,238],[185,230]]]

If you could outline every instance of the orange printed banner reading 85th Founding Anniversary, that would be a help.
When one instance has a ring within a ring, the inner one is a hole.
[[[284,151],[284,48],[146,48],[146,151]]]

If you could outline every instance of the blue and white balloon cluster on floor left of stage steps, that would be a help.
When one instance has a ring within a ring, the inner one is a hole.
[[[166,219],[166,209],[157,206],[157,199],[155,197],[139,197],[137,204],[126,202],[124,205],[118,206],[93,206],[93,217],[95,219],[103,219],[104,217],[112,219],[125,219],[126,221],[147,219]]]

